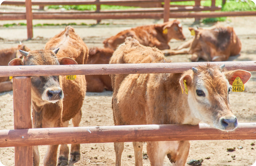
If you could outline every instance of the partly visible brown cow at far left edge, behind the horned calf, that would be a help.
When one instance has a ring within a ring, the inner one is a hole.
[[[12,47],[7,49],[0,50],[0,66],[8,66],[8,63],[14,58],[20,58],[22,55],[19,52],[19,49],[22,51],[30,51],[28,47],[24,44],[18,45],[18,47]],[[9,80],[9,77],[0,77],[0,93],[3,91],[12,90],[12,81]]]

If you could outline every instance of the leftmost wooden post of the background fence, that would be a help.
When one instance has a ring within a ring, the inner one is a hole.
[[[32,2],[31,0],[26,0],[26,19],[27,19],[27,31],[28,31],[28,40],[33,37],[33,14],[32,14]]]

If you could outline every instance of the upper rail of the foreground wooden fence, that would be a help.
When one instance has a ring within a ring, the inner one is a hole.
[[[225,64],[228,70],[256,71],[256,61],[208,62]],[[6,76],[54,76],[54,75],[111,75],[144,73],[183,73],[206,62],[190,63],[137,63],[137,64],[78,64],[45,66],[0,66],[0,77]]]

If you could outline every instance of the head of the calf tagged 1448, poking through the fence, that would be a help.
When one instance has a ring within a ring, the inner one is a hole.
[[[230,131],[238,122],[230,109],[228,94],[236,77],[246,83],[251,73],[244,70],[226,71],[224,66],[199,66],[183,74],[180,85],[185,91],[183,80],[187,82],[190,111],[202,122],[216,129]]]

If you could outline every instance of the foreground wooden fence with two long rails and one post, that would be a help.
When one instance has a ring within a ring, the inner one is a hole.
[[[256,61],[211,62],[227,70],[256,71]],[[206,63],[94,64],[56,66],[0,66],[0,76],[13,76],[14,130],[0,130],[0,147],[15,147],[15,165],[32,166],[36,145],[133,141],[256,139],[256,123],[240,123],[234,132],[206,124],[126,125],[31,129],[30,76],[182,73]]]

